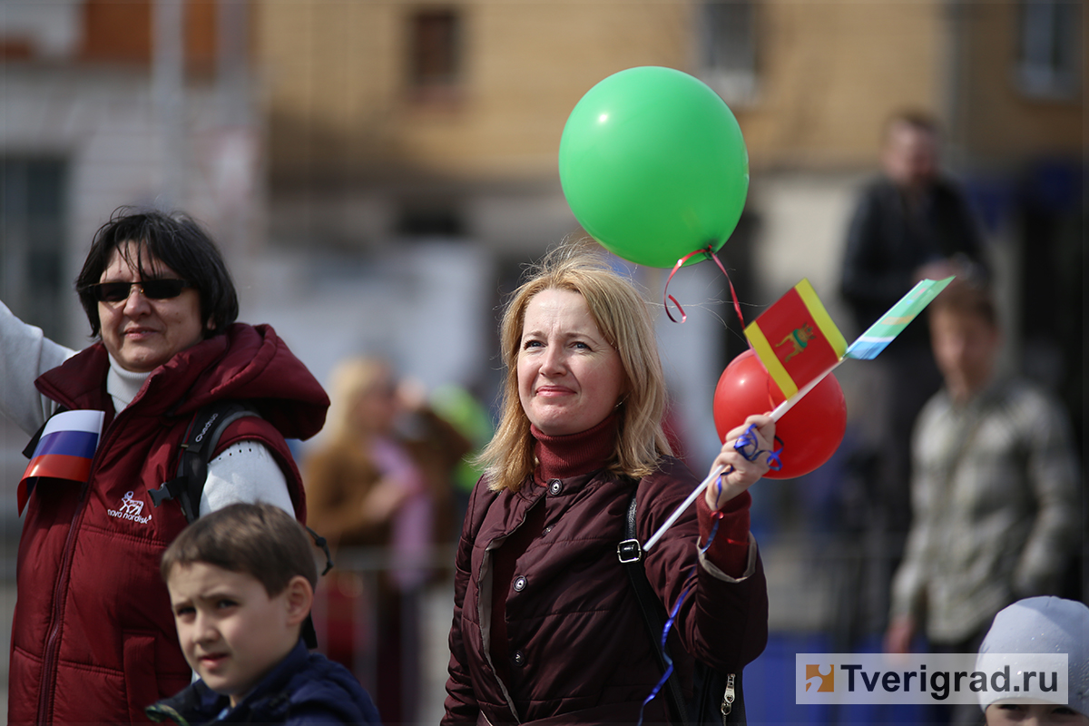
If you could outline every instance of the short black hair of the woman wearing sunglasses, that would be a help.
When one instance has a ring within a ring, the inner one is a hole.
[[[126,242],[140,244],[126,248]],[[137,270],[144,270],[146,250],[147,255],[193,285],[200,295],[200,323],[211,322],[211,330],[205,330],[205,337],[222,333],[237,319],[238,295],[234,281],[219,247],[199,224],[181,213],[134,211],[120,207],[109,222],[98,227],[83,270],[75,279],[75,288],[90,321],[93,336],[99,334],[101,322],[98,319],[98,302],[87,286],[101,281],[113,250],[123,254],[125,261]]]

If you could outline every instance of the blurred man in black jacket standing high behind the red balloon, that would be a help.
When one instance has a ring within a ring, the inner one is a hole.
[[[885,125],[882,173],[861,190],[847,229],[841,293],[857,332],[877,321],[922,279],[952,274],[982,282],[988,276],[980,226],[959,186],[941,172],[937,122],[902,111]],[[930,340],[916,321],[867,366],[873,390],[862,411],[865,443],[852,457],[867,516],[864,582],[852,588],[856,632],[881,632],[886,623],[889,582],[910,524],[911,427],[941,385]]]

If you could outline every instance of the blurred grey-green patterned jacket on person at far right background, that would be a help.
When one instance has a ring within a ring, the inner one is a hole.
[[[1011,602],[1053,592],[1079,528],[1077,482],[1068,422],[1042,391],[999,381],[960,406],[938,393],[913,436],[914,520],[893,616],[956,642]]]

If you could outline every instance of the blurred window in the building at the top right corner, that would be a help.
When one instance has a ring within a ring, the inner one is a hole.
[[[1020,4],[1017,85],[1030,98],[1076,98],[1080,84],[1081,4],[1026,0]]]

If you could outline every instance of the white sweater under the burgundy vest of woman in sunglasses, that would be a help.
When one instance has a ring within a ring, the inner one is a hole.
[[[34,381],[75,353],[45,337],[39,328],[27,325],[0,303],[0,413],[34,435],[57,409],[56,402],[38,393]],[[115,411],[132,403],[148,376],[121,368],[110,356],[106,391]],[[258,441],[228,446],[208,463],[200,516],[235,502],[268,502],[294,516],[287,480],[272,453]]]

